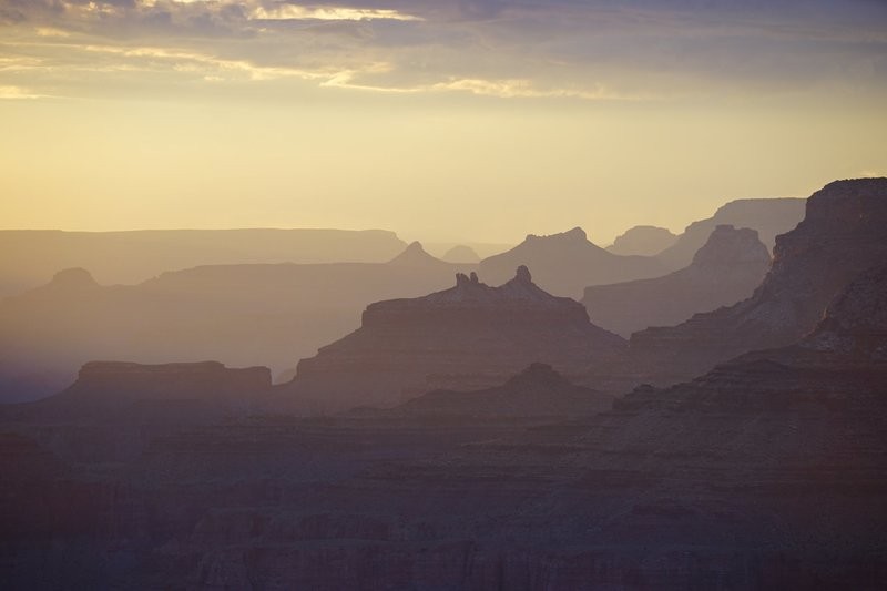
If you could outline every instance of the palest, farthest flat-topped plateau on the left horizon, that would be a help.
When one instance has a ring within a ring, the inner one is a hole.
[[[381,263],[405,246],[381,230],[3,230],[0,297],[37,287],[60,268],[88,268],[102,284],[132,284],[200,265]]]

